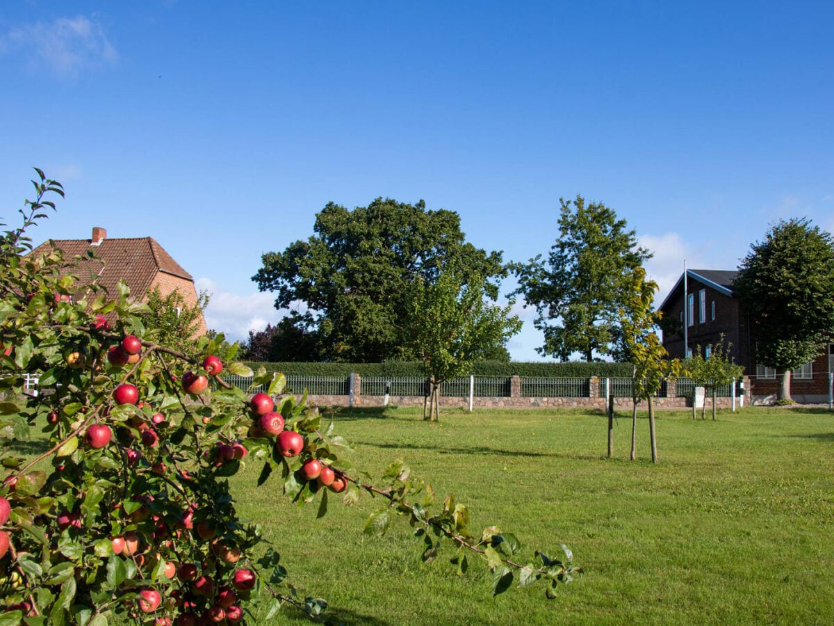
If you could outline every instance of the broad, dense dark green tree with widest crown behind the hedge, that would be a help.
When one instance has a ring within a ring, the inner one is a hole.
[[[253,280],[275,292],[278,309],[304,302],[308,310],[291,313],[287,324],[312,337],[329,361],[413,358],[402,322],[416,280],[430,285],[454,266],[463,285],[479,281],[495,298],[497,279],[506,275],[500,252],[465,242],[457,213],[426,210],[422,200],[378,198],[354,210],[330,203],[314,231],[264,254]]]

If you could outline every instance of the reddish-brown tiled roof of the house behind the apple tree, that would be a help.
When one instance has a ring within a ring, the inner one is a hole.
[[[193,280],[153,237],[102,238],[95,244],[93,240],[49,240],[31,254],[40,255],[50,249],[63,250],[66,259],[92,251],[98,260],[84,261],[73,269],[73,274],[78,275],[83,285],[96,282],[111,294],[116,293],[118,281],[123,280],[133,295],[144,295],[158,272]]]

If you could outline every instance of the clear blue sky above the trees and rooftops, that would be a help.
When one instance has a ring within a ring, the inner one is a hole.
[[[331,200],[422,198],[526,260],[582,194],[655,252],[662,299],[774,220],[834,231],[831,23],[827,2],[3,3],[0,215],[45,169],[67,199],[36,243],[151,235],[243,338],[280,315],[260,255]],[[536,360],[519,311],[510,353]]]

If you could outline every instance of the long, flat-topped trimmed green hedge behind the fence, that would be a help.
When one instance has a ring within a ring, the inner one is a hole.
[[[284,374],[300,376],[382,376],[391,378],[416,378],[424,376],[417,361],[385,361],[384,363],[298,363],[298,362],[249,362],[255,371],[264,366],[267,371],[283,371]],[[567,363],[524,363],[501,361],[479,361],[475,364],[475,376],[521,376],[522,378],[629,378],[631,363],[610,363],[596,361],[569,361]]]

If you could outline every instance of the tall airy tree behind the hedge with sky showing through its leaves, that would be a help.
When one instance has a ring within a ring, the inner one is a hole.
[[[567,361],[579,352],[593,361],[617,351],[626,277],[651,254],[605,204],[585,204],[580,195],[559,201],[559,239],[546,260],[515,265],[514,294],[535,305],[535,327],[545,335],[540,354]]]

